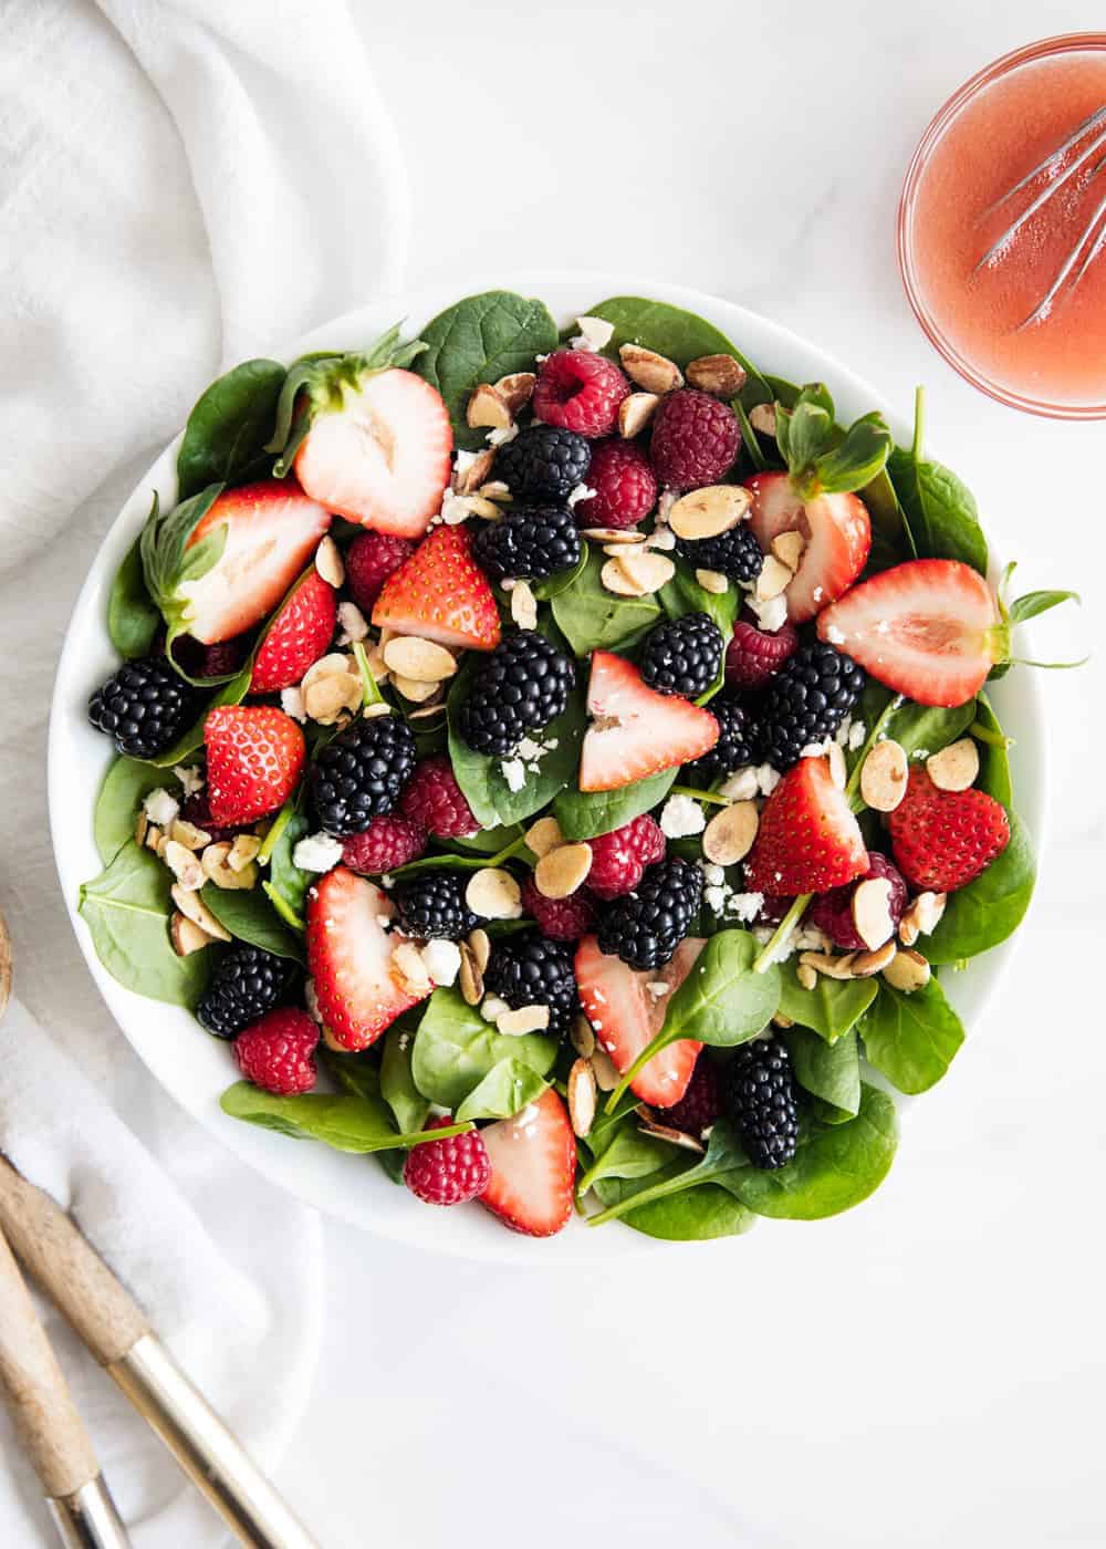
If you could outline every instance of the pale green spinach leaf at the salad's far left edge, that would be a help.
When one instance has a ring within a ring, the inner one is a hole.
[[[172,872],[133,840],[81,888],[96,956],[135,994],[192,1007],[208,982],[208,950],[178,957],[169,940]]]

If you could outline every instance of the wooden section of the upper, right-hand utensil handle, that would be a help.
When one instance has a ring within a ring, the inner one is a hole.
[[[0,1157],[0,1230],[104,1366],[121,1360],[150,1326],[65,1211]]]

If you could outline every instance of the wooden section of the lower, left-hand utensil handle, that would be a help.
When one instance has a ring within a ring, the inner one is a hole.
[[[3,1236],[0,1382],[23,1448],[46,1495],[68,1496],[90,1484],[99,1473],[96,1455]]]

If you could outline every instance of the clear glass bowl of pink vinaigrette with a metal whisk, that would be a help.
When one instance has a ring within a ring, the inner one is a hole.
[[[970,381],[1039,414],[1106,417],[1106,237],[1078,285],[1035,319],[1091,226],[1101,231],[1106,122],[1002,200],[1094,113],[1106,108],[1106,36],[1053,39],[968,82],[929,127],[900,212],[900,257],[914,310]],[[1072,163],[1103,136],[1083,166]],[[987,259],[1049,184],[1053,195]],[[984,260],[984,262],[981,262]]]

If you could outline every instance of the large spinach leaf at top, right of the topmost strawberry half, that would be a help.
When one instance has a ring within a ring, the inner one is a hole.
[[[472,451],[485,445],[485,432],[469,429],[465,418],[472,389],[511,372],[533,370],[536,355],[556,349],[558,331],[541,301],[513,291],[485,291],[438,313],[423,328],[421,339],[426,350],[414,370],[445,398],[457,446]]]

